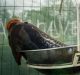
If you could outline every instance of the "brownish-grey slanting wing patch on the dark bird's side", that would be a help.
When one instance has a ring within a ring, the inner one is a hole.
[[[19,32],[19,37],[21,39],[21,41],[23,42],[23,44],[25,44],[25,46],[27,46],[30,50],[31,49],[38,49],[38,46],[31,41],[28,33],[25,31],[24,28],[22,28]]]

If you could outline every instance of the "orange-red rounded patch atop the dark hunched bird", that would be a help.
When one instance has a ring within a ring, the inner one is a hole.
[[[15,24],[17,24],[17,23],[20,23],[20,22],[21,22],[21,20],[18,19],[18,18],[11,19],[11,20],[9,20],[9,21],[7,22],[7,24],[6,24],[6,29],[7,29],[8,31],[10,31],[10,29],[13,27],[13,25],[15,25]]]

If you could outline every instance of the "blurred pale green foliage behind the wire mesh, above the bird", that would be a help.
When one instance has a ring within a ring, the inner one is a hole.
[[[72,0],[64,0],[60,14],[60,4],[56,2],[54,0],[46,0],[46,6],[40,6],[40,10],[35,10],[36,8],[23,10],[18,15],[14,14],[13,10],[11,10],[13,11],[11,14],[8,12],[8,8],[0,7],[0,18],[4,25],[12,17],[22,18],[64,43],[76,44],[76,36],[72,33],[73,27],[76,27],[76,7]]]

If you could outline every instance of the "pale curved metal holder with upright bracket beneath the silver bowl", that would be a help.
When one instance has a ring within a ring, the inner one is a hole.
[[[79,62],[79,57],[80,57],[80,53],[75,53],[75,56],[74,56],[74,60],[73,60],[73,63],[66,63],[66,64],[60,64],[60,65],[56,65],[56,64],[53,64],[53,65],[34,65],[34,64],[27,64],[28,67],[30,68],[36,68],[36,69],[62,69],[62,68],[71,68],[71,67],[78,67],[80,66],[80,63]]]

